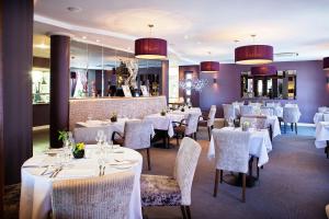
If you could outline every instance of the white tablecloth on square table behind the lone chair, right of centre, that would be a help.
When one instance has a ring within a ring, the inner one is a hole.
[[[237,131],[241,130],[240,128],[234,127],[224,127],[225,130]],[[214,129],[213,134],[216,135],[220,129]],[[249,154],[259,158],[258,166],[262,166],[266,162],[269,162],[269,152],[272,150],[272,142],[270,139],[269,131],[266,129],[262,130],[250,130],[251,137],[249,140]],[[212,140],[208,148],[207,157],[209,160],[215,159],[215,145],[214,137],[212,136]]]

